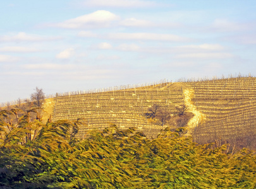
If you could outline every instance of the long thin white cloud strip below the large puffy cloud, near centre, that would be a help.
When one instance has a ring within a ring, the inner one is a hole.
[[[110,33],[107,38],[117,40],[166,40],[174,42],[183,42],[189,40],[185,37],[162,33]]]

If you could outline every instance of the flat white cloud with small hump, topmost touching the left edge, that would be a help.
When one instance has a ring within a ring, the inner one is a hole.
[[[58,40],[61,39],[61,37],[45,37],[40,35],[34,35],[34,34],[27,34],[25,32],[20,32],[17,35],[4,35],[0,36],[0,41],[3,42],[19,42],[19,41],[44,41],[44,40]]]

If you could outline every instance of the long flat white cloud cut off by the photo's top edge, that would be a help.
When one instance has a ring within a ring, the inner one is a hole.
[[[83,4],[85,6],[118,8],[147,8],[157,6],[157,3],[152,1],[141,0],[87,0]]]

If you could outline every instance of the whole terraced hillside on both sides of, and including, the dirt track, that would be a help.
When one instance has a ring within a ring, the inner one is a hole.
[[[163,127],[145,118],[150,106],[158,104],[171,113],[185,103],[193,113],[186,124],[195,142],[222,142],[256,149],[256,78],[236,77],[210,81],[163,83],[142,88],[103,93],[58,96],[54,120],[83,118],[87,130],[104,129],[116,124],[121,129],[137,127],[155,137]],[[164,125],[166,127],[167,125]]]

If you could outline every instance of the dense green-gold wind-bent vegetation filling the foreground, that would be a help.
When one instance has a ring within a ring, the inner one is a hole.
[[[185,129],[149,140],[115,125],[76,139],[82,120],[42,123],[13,109],[0,112],[2,188],[255,188],[256,156],[198,145]]]

